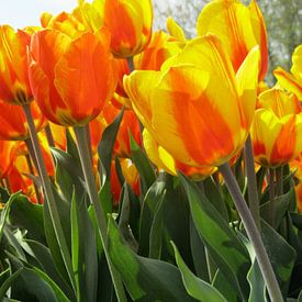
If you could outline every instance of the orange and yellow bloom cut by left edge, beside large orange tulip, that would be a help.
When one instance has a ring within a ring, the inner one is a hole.
[[[31,35],[0,26],[0,99],[12,104],[27,104],[33,100],[27,68],[27,47]]]

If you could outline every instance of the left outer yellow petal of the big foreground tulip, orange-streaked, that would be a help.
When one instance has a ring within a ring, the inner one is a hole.
[[[124,77],[124,89],[132,101],[132,108],[143,125],[154,133],[152,126],[153,112],[150,110],[150,97],[158,85],[160,71],[135,70]]]

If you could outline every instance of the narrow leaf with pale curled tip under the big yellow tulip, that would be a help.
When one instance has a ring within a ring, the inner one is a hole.
[[[146,192],[141,219],[139,219],[139,246],[138,254],[147,256],[149,253],[149,234],[158,203],[163,200],[165,190],[165,182],[161,178],[157,179]]]

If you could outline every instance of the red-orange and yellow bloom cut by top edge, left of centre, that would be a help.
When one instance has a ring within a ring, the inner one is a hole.
[[[150,0],[105,0],[103,18],[112,34],[111,48],[116,57],[143,52],[152,36]]]

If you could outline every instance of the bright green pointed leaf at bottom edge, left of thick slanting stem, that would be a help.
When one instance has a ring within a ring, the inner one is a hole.
[[[199,301],[226,302],[224,297],[211,284],[197,278],[182,260],[176,245],[172,243],[177,266],[180,269],[187,292]]]

